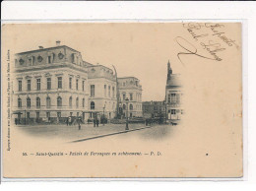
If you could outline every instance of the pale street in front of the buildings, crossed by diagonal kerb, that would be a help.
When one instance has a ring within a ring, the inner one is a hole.
[[[105,124],[94,127],[93,124],[82,124],[81,130],[78,125],[34,125],[17,126],[21,131],[33,137],[60,138],[68,142],[87,141],[87,139],[104,139],[105,136],[140,136],[145,139],[161,139],[172,130],[170,125],[155,125],[145,128],[145,124],[129,124],[128,132],[125,124]],[[138,130],[137,130],[138,129]],[[120,134],[120,135],[119,135]]]

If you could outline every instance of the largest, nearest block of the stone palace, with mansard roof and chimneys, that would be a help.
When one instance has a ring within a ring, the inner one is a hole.
[[[66,45],[21,52],[15,58],[13,108],[19,122],[87,118],[88,71],[79,51]]]

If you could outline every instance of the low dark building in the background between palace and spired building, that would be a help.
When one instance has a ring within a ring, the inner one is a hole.
[[[160,117],[165,114],[165,105],[163,101],[143,101],[142,110],[146,118]]]

